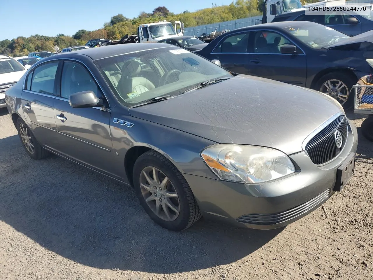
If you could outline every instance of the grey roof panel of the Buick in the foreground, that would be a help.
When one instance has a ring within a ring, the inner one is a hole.
[[[58,54],[59,57],[68,57],[70,55],[86,55],[91,57],[93,60],[117,56],[117,55],[124,55],[126,53],[133,53],[133,52],[141,52],[144,50],[151,50],[151,49],[161,49],[165,47],[172,47],[169,44],[163,43],[129,43],[129,44],[117,44],[112,46],[102,46],[97,48],[88,48],[82,50],[76,50],[73,53],[60,53]],[[49,60],[49,57],[44,60]],[[55,58],[55,57],[54,57]]]

